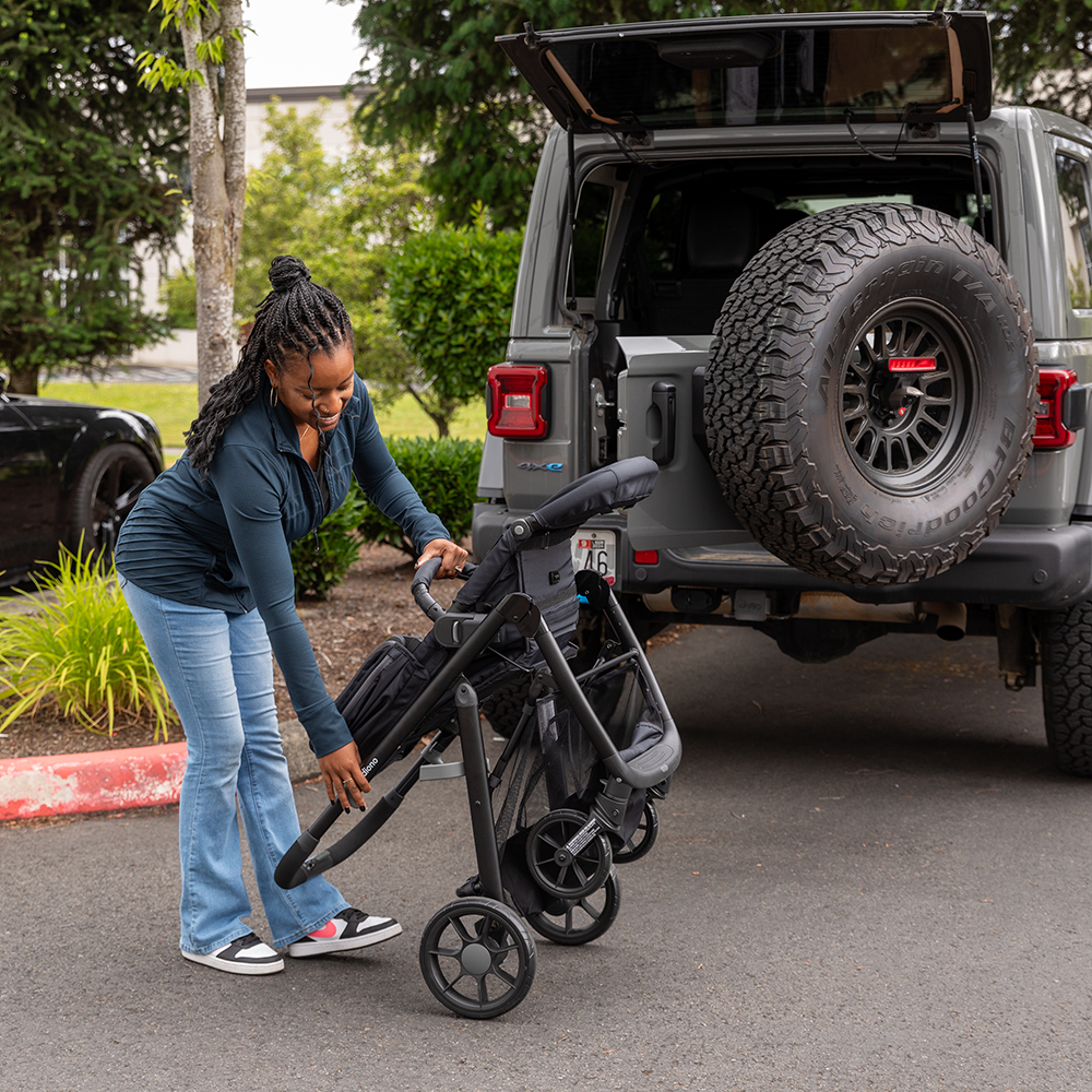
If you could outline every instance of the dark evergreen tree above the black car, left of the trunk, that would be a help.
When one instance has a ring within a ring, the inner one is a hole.
[[[0,367],[91,367],[165,331],[138,253],[173,241],[185,112],[150,103],[133,59],[167,49],[145,0],[0,5]]]

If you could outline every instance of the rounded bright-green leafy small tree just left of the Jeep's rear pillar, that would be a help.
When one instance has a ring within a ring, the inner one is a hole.
[[[478,397],[505,358],[522,233],[474,223],[410,236],[390,268],[390,321],[415,361],[410,392],[441,437],[460,405]]]

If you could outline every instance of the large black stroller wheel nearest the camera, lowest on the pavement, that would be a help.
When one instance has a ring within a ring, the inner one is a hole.
[[[535,942],[494,899],[448,903],[420,938],[420,973],[441,1005],[474,1020],[514,1009],[535,981]]]

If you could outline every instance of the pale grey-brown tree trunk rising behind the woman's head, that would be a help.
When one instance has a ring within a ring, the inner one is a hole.
[[[235,367],[235,271],[242,238],[246,193],[247,86],[242,43],[232,31],[242,26],[242,0],[221,0],[219,16],[203,25],[181,25],[187,68],[204,83],[192,82],[190,100],[190,174],[193,187],[193,261],[198,294],[198,405]],[[224,40],[223,109],[218,72],[200,61],[199,40],[217,34]],[[223,116],[223,134],[221,133]]]

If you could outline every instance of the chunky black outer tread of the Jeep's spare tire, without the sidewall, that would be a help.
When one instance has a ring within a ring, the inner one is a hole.
[[[835,521],[808,459],[804,369],[833,292],[887,246],[942,244],[982,262],[1018,317],[1028,360],[1019,456],[980,523],[939,546],[894,553]],[[1030,316],[1000,256],[965,225],[910,205],[830,210],[775,236],[733,287],[713,331],[705,382],[710,461],[729,507],[757,542],[805,572],[901,584],[962,561],[997,526],[1031,453],[1034,395]]]

